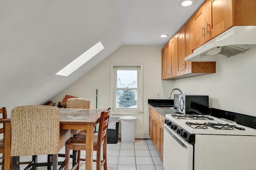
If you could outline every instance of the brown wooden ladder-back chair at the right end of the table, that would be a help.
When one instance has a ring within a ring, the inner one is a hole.
[[[96,162],[96,170],[101,170],[104,166],[104,170],[107,170],[107,133],[108,133],[108,120],[110,115],[110,108],[107,111],[102,111],[100,114],[100,125],[98,134],[94,134],[93,150],[97,151],[97,158],[93,160]],[[103,160],[101,160],[101,148],[103,147]],[[80,151],[86,150],[86,133],[79,133],[66,143],[66,158],[65,158],[65,170],[68,170],[69,166],[69,150],[78,150],[78,156],[76,164],[73,169],[79,170]]]

